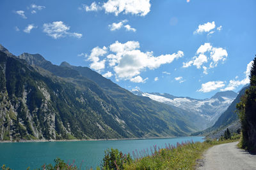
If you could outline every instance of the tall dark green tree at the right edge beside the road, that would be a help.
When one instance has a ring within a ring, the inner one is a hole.
[[[250,74],[250,88],[246,90],[236,108],[239,111],[243,138],[241,146],[256,153],[256,57]]]

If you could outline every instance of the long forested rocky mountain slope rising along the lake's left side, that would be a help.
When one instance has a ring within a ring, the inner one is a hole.
[[[185,136],[196,130],[172,106],[136,96],[88,67],[0,50],[1,140]]]

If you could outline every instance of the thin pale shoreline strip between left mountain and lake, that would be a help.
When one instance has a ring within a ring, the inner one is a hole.
[[[36,143],[36,142],[70,142],[70,141],[122,141],[122,140],[143,140],[143,139],[168,139],[180,138],[187,136],[166,136],[166,137],[151,137],[151,138],[118,138],[118,139],[44,139],[44,140],[20,140],[20,141],[0,141],[0,143]],[[192,136],[191,136],[192,137]],[[203,136],[202,136],[203,137]]]

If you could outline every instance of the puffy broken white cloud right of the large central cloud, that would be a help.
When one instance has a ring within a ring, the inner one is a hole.
[[[207,54],[205,54],[207,53]],[[225,61],[228,57],[227,50],[223,48],[216,48],[211,43],[204,43],[196,51],[196,55],[188,62],[183,62],[182,67],[196,66],[197,69],[201,67],[204,69],[204,74],[207,74],[207,69],[218,66],[220,61]],[[207,57],[208,55],[208,57]],[[207,62],[210,62],[209,67],[203,66]]]

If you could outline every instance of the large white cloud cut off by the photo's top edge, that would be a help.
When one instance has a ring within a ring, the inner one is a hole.
[[[106,13],[120,13],[145,16],[150,11],[150,0],[108,0],[106,3],[97,4],[93,2],[90,6],[83,5],[86,11],[105,10]]]

